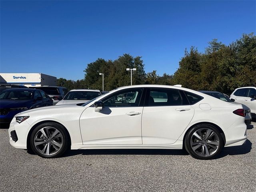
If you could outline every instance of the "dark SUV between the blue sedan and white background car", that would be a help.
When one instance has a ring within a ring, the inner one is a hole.
[[[53,100],[53,104],[56,105],[60,100],[64,98],[64,96],[68,93],[68,89],[65,87],[59,86],[41,86],[34,87],[35,89],[40,89],[44,91],[50,98]]]

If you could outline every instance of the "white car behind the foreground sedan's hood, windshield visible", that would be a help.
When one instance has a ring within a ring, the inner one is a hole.
[[[56,105],[85,103],[100,95],[102,95],[100,90],[73,89],[70,90]]]

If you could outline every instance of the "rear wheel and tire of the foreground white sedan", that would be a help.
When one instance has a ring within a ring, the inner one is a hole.
[[[223,139],[220,131],[210,124],[194,126],[185,137],[186,151],[194,158],[209,160],[220,153]]]

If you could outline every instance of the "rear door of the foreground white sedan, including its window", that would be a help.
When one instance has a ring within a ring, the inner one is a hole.
[[[142,114],[143,144],[173,144],[194,116],[184,92],[150,88]]]

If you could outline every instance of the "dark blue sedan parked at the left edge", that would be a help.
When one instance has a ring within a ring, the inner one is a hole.
[[[24,110],[52,104],[52,99],[42,90],[6,89],[0,93],[0,124],[9,124],[14,115]]]

